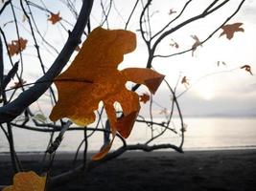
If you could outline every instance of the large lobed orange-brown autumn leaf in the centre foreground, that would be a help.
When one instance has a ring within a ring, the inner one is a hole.
[[[99,102],[103,101],[110,122],[112,140],[94,159],[101,159],[110,149],[116,132],[127,138],[140,110],[139,96],[126,89],[127,81],[148,86],[153,94],[164,75],[150,69],[117,70],[124,54],[134,51],[136,36],[123,30],[96,28],[81,47],[71,66],[55,79],[58,103],[50,118],[69,117],[84,126],[94,122]],[[114,103],[119,102],[123,117],[117,118]]]

